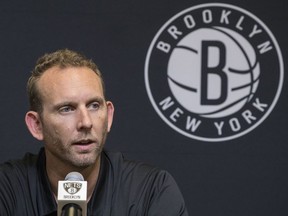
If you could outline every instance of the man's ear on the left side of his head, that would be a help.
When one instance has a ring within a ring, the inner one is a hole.
[[[42,124],[39,114],[34,111],[27,112],[25,122],[32,136],[38,140],[43,140]]]

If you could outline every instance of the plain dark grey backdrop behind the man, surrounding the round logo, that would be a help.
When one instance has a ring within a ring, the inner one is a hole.
[[[28,133],[25,85],[36,59],[70,48],[100,66],[116,108],[107,149],[167,169],[190,215],[287,215],[287,78],[273,112],[252,132],[209,143],[184,137],[154,111],[144,63],[160,27],[178,12],[209,1],[95,0],[0,3],[0,162],[38,152]],[[210,1],[213,2],[213,1]],[[222,1],[259,17],[288,52],[286,0]],[[267,86],[269,88],[269,86]]]

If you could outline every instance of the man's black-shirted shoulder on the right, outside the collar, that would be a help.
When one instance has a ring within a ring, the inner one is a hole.
[[[141,161],[127,160],[121,153],[106,153],[114,177],[117,210],[129,207],[131,215],[188,215],[185,202],[172,175]]]

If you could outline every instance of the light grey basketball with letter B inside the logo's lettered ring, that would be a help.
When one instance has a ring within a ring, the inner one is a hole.
[[[208,42],[209,55],[206,56],[202,46]],[[224,68],[217,68],[220,61],[224,62]],[[203,62],[207,63],[206,68],[216,68],[222,73],[222,76],[208,73],[204,80],[209,87],[204,89],[206,96],[201,92]],[[168,82],[177,101],[190,112],[209,118],[228,116],[240,110],[252,99],[259,76],[259,63],[250,43],[235,31],[221,27],[201,28],[186,35],[173,49],[168,64]],[[225,98],[217,100],[223,94]],[[202,97],[214,104],[201,102]]]

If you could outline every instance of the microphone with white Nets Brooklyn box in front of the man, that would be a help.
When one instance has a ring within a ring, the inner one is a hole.
[[[58,182],[57,216],[87,216],[87,181],[78,172],[70,172]]]

